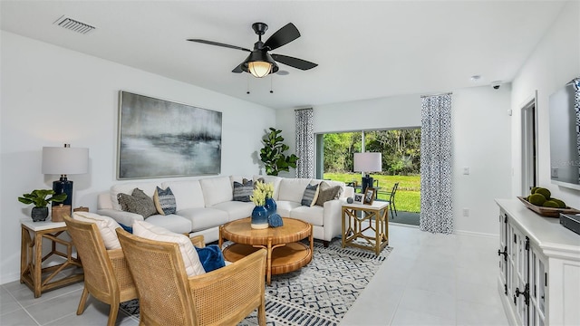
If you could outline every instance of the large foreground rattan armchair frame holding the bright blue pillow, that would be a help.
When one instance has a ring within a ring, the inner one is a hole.
[[[140,325],[236,325],[256,308],[266,325],[266,250],[188,277],[177,244],[117,235],[139,292]]]

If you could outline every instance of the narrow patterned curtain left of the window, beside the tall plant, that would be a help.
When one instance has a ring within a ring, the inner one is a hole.
[[[295,110],[296,177],[314,177],[314,114],[311,109]]]

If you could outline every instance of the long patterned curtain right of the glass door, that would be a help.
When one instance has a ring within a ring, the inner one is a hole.
[[[453,232],[451,95],[421,99],[420,223],[422,231]]]

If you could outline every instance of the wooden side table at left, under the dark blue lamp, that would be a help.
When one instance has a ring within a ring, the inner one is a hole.
[[[66,277],[58,277],[58,273],[69,268],[81,268],[81,260],[73,257],[73,241],[60,238],[65,233],[64,222],[33,222],[30,218],[20,220],[22,229],[20,247],[20,283],[25,283],[34,292],[34,298],[41,296],[56,287],[80,282],[83,273],[73,273]],[[51,241],[52,250],[43,255],[43,239]],[[66,253],[56,245],[63,245]],[[61,264],[47,264],[47,259],[53,255],[62,257]],[[45,264],[45,266],[43,266]]]

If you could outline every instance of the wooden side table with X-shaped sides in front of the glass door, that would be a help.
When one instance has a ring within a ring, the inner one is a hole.
[[[389,245],[389,202],[343,204],[343,248],[346,245],[381,254]]]

